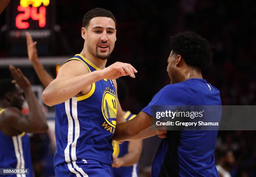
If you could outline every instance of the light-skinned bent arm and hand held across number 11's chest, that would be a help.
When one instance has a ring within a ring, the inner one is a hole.
[[[77,63],[79,62],[79,63]],[[116,79],[121,76],[134,76],[137,72],[130,64],[115,62],[103,70],[90,72],[82,69],[80,61],[72,60],[65,63],[59,70],[57,78],[44,90],[42,100],[46,105],[53,106],[74,97],[84,89],[91,87],[92,83],[102,79]],[[133,72],[132,72],[133,71]],[[86,94],[86,93],[85,93]]]

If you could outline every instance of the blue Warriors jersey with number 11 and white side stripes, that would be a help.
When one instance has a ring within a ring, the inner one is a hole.
[[[89,72],[100,70],[82,55],[79,60]],[[65,62],[64,62],[65,63]],[[67,163],[71,172],[79,171],[76,161],[96,160],[113,163],[112,137],[115,132],[117,101],[112,80],[99,80],[90,92],[55,106],[56,152],[54,167]],[[81,169],[80,169],[81,170]],[[83,175],[83,174],[82,174]]]

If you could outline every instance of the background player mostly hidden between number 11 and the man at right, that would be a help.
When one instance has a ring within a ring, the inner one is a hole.
[[[118,85],[118,100],[120,104],[124,103],[128,95],[128,87],[123,80],[116,80]],[[125,120],[132,120],[136,115],[130,111],[123,111]],[[138,161],[141,157],[142,140],[125,141],[119,145],[113,141],[113,158],[112,164],[114,177],[138,177]]]

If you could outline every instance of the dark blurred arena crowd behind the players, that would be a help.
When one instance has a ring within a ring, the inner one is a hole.
[[[16,0],[13,0],[16,1]],[[223,105],[256,105],[256,1],[231,0],[50,0],[54,4],[47,16],[52,25],[49,41],[38,40],[39,59],[56,76],[56,64],[82,50],[82,18],[94,7],[103,7],[117,19],[117,41],[107,65],[131,63],[138,73],[136,79],[123,78],[129,87],[124,110],[138,113],[164,85],[169,84],[166,72],[169,56],[169,35],[192,30],[204,36],[214,47],[213,65],[203,77],[217,87]],[[10,77],[8,64],[22,69],[34,90],[43,89],[26,57],[26,40],[10,39],[11,3],[0,15],[0,78]],[[46,21],[47,22],[47,21]],[[32,29],[33,30],[33,29]],[[52,46],[52,47],[49,47]],[[54,108],[46,108],[49,122],[54,121]],[[52,126],[53,127],[53,124]],[[51,136],[51,135],[50,135]],[[31,137],[31,150],[36,177],[51,176],[51,138],[47,134]],[[144,140],[140,161],[141,176],[150,171],[159,139]],[[215,160],[223,151],[232,150],[236,162],[233,177],[256,176],[256,133],[253,131],[222,131],[218,133]]]

